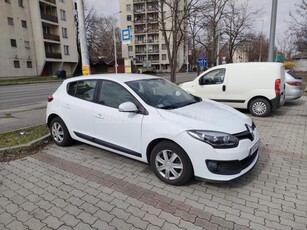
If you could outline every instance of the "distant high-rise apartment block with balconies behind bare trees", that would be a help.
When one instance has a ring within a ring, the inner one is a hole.
[[[158,4],[158,0],[120,0],[121,29],[128,28],[131,34],[130,44],[122,44],[122,54],[125,59],[133,60],[136,70],[150,68],[157,72],[170,72],[166,45],[160,30]],[[165,23],[168,27],[169,22]],[[178,70],[183,60],[182,46],[177,56]]]

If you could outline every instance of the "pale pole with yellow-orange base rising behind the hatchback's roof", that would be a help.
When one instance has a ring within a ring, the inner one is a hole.
[[[85,35],[83,0],[77,0],[77,9],[78,9],[79,39],[81,47],[82,74],[89,75],[91,74],[91,69],[90,69],[87,41]]]

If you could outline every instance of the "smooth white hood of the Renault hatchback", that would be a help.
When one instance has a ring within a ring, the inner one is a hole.
[[[186,130],[214,130],[234,134],[245,131],[245,124],[252,124],[252,120],[243,113],[208,99],[182,108],[157,110],[164,119],[178,123]]]

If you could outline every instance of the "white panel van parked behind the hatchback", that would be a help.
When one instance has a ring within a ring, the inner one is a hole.
[[[265,117],[285,101],[285,69],[277,62],[215,66],[181,87],[187,92]]]

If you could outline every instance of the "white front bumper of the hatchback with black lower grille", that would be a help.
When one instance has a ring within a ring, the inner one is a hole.
[[[209,144],[196,140],[188,134],[176,140],[188,154],[194,175],[201,180],[230,181],[250,171],[256,164],[259,152],[259,134],[254,129],[253,141],[240,140],[239,145],[229,149],[214,149]],[[188,136],[185,136],[188,135]],[[185,137],[184,137],[185,136]],[[257,146],[255,149],[254,146]]]

